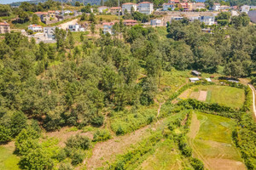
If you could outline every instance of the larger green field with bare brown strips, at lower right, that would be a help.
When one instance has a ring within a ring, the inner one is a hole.
[[[236,122],[229,118],[194,114],[188,134],[193,156],[204,161],[209,169],[225,169],[227,165],[229,169],[245,169],[239,151],[232,143],[235,126]]]

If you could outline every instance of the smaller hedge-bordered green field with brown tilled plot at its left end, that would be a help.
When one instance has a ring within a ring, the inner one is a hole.
[[[233,108],[241,108],[245,100],[243,89],[216,85],[196,86],[189,88],[183,94],[181,94],[179,98],[192,98],[201,100],[202,91],[207,91],[207,97],[203,101],[208,103],[218,103]]]

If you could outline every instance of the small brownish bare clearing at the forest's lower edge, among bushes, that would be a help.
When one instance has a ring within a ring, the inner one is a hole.
[[[55,131],[55,132],[50,132],[50,133],[45,133],[45,136],[48,138],[56,138],[59,139],[59,146],[60,147],[65,147],[65,142],[67,141],[67,139],[73,135],[76,134],[80,134],[80,135],[84,135],[87,136],[90,139],[93,139],[93,134],[90,132],[87,133],[82,133],[82,130],[77,130],[77,131],[68,131],[69,127],[63,127],[61,128],[61,130],[59,131]]]

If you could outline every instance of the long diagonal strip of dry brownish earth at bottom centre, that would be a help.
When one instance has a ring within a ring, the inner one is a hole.
[[[150,128],[155,129],[154,125],[148,125],[133,133],[97,143],[92,150],[92,156],[86,161],[87,169],[104,167],[106,161],[113,162],[116,155],[124,153],[131,144],[136,144],[149,134],[148,129]]]

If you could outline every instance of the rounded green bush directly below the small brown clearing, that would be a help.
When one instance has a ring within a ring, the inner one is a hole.
[[[87,136],[77,134],[67,139],[66,147],[88,150],[90,148],[90,139]]]

